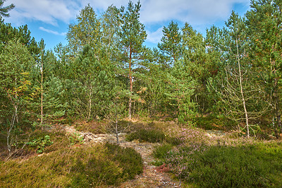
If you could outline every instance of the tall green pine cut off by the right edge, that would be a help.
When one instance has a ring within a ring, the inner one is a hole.
[[[252,42],[252,66],[271,99],[275,130],[281,124],[282,1],[252,0],[247,12],[248,37]],[[276,136],[278,133],[276,131]]]

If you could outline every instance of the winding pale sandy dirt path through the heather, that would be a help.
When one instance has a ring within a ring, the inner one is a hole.
[[[65,127],[67,134],[77,133],[83,137],[85,143],[106,142],[116,143],[116,137],[112,134],[92,134],[90,132],[76,131],[74,127]],[[136,141],[125,141],[125,134],[119,136],[120,146],[134,148],[140,153],[144,163],[144,170],[134,180],[124,182],[120,187],[180,187],[179,182],[171,180],[164,168],[152,165],[152,152],[154,146],[159,143],[139,143]]]

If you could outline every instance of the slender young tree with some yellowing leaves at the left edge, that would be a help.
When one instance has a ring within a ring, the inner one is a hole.
[[[4,48],[4,52],[0,54],[0,94],[4,98],[0,101],[5,108],[0,107],[0,111],[8,124],[7,146],[11,153],[13,130],[24,124],[23,107],[32,97],[29,74],[32,66],[35,66],[35,59],[18,40],[9,41]]]

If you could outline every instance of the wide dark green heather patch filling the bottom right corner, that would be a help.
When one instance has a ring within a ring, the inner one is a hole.
[[[190,146],[168,153],[165,163],[200,187],[281,187],[281,156],[281,143]]]

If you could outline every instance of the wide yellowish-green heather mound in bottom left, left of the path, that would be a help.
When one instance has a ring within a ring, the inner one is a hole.
[[[129,148],[108,143],[9,160],[0,168],[0,187],[103,187],[141,173],[142,160]]]

